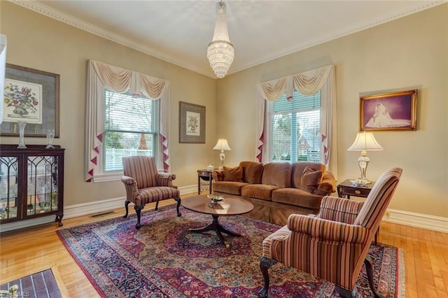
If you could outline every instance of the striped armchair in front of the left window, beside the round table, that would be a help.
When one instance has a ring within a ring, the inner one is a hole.
[[[177,201],[177,216],[181,216],[179,212],[179,206],[181,206],[180,192],[172,182],[176,179],[176,175],[158,172],[154,157],[130,156],[123,157],[122,160],[124,176],[121,181],[126,188],[126,214],[124,218],[127,218],[127,206],[131,202],[134,203],[134,209],[137,213],[137,225],[135,227],[140,229],[141,210],[145,204],[155,201],[155,210],[157,210],[159,201],[171,198]]]

